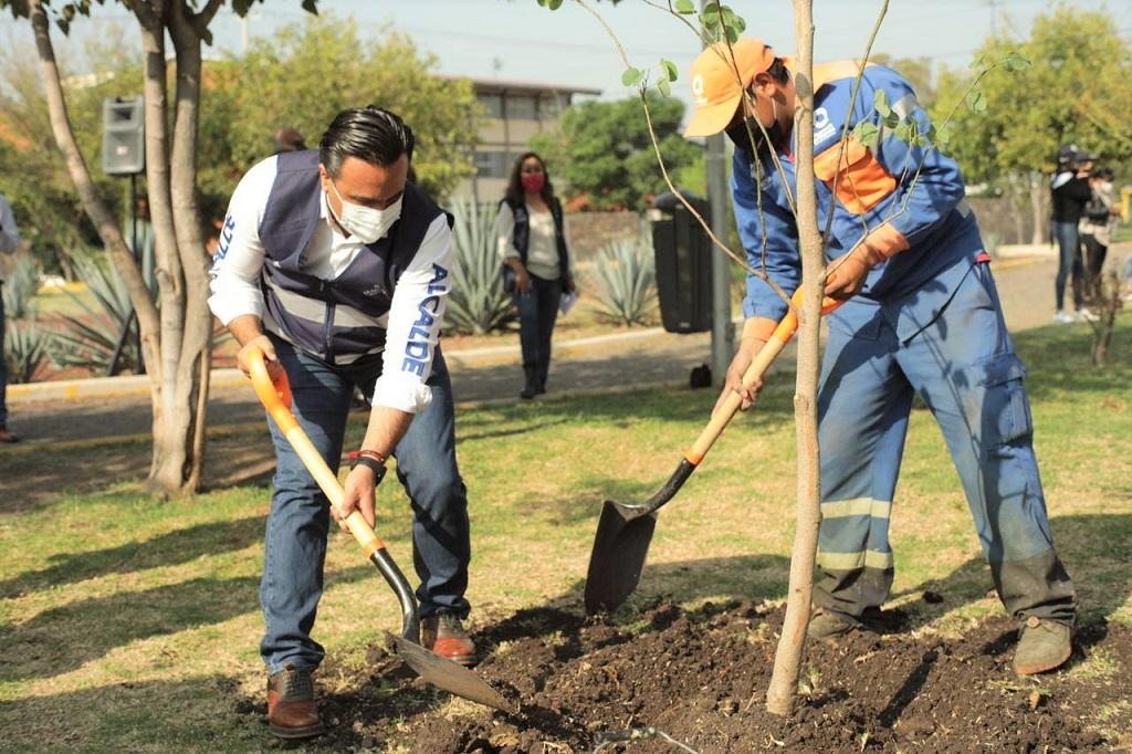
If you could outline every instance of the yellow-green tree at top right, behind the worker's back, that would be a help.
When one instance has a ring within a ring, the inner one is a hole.
[[[1045,238],[1048,175],[1057,147],[1075,143],[1105,162],[1132,157],[1132,45],[1123,40],[1112,15],[1060,7],[1038,17],[1030,38],[1018,44],[989,37],[977,60],[994,59],[1006,49],[1020,51],[1034,65],[1009,74],[995,70],[980,84],[986,112],[961,110],[954,156],[969,181],[986,182],[1022,199],[1032,216],[1031,242]],[[935,117],[945,114],[967,89],[972,75],[947,70],[940,78]]]

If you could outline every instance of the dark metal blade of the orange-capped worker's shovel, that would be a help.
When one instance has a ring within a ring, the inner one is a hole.
[[[585,577],[586,615],[611,612],[633,593],[655,529],[655,512],[640,515],[612,500],[604,502]]]

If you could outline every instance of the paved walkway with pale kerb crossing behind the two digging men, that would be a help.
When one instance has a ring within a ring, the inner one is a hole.
[[[1045,325],[1053,316],[1052,259],[1028,258],[995,263],[1003,308],[1011,329]],[[710,335],[672,335],[660,329],[628,332],[616,336],[566,341],[556,346],[550,395],[561,392],[610,389],[620,386],[687,384],[688,371],[711,360]],[[480,402],[517,396],[521,383],[518,348],[503,346],[446,353],[453,389],[460,402]],[[790,363],[787,352],[781,362]],[[62,443],[97,443],[110,438],[146,437],[151,430],[148,394],[134,392],[98,394],[106,380],[84,380],[72,397],[42,400],[43,391],[9,389],[10,425],[24,442],[0,448],[23,455]],[[129,379],[121,383],[130,386]],[[41,399],[36,400],[36,395]],[[211,428],[261,422],[263,410],[249,384],[234,370],[214,372],[208,403]]]

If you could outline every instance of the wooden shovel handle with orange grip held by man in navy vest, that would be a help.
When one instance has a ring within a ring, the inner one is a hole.
[[[264,352],[258,348],[254,348],[248,352],[248,366],[251,372],[251,385],[256,388],[256,395],[259,396],[259,401],[267,409],[267,412],[272,414],[272,419],[275,420],[280,431],[286,436],[288,442],[291,443],[291,447],[294,448],[302,464],[307,466],[307,471],[318,482],[319,488],[326,495],[326,499],[341,513],[345,490],[342,489],[338,478],[326,465],[326,462],[323,461],[318,448],[310,442],[310,437],[307,436],[307,432],[302,430],[294,414],[291,413],[291,386],[288,383],[286,374],[280,371],[278,379],[273,382],[267,371]],[[366,521],[360,511],[353,511],[346,516],[345,524],[350,529],[350,533],[353,534],[353,538],[361,545],[361,549],[366,551],[367,557],[378,550],[385,549],[385,543],[374,532],[374,528],[369,525],[369,522]]]

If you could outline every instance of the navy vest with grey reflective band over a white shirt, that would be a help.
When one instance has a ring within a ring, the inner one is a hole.
[[[284,152],[259,225],[263,289],[278,335],[329,363],[344,365],[385,348],[393,289],[432,221],[444,213],[413,183],[405,185],[401,217],[333,281],[307,272],[307,245],[320,216],[318,153]]]

